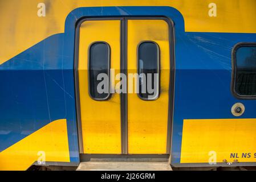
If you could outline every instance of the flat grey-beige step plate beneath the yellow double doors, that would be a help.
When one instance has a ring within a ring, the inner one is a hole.
[[[76,171],[172,171],[168,162],[82,162]]]

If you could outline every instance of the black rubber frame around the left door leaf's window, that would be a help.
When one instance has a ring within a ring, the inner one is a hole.
[[[87,69],[88,69],[88,94],[89,96],[92,98],[92,100],[95,100],[95,101],[107,101],[109,100],[109,98],[111,98],[111,93],[110,93],[110,80],[108,80],[108,96],[105,97],[105,98],[95,98],[95,97],[92,97],[91,95],[91,84],[90,84],[90,79],[91,79],[91,74],[90,74],[90,63],[91,63],[91,59],[90,59],[90,56],[91,56],[91,47],[96,44],[96,43],[104,43],[105,45],[107,45],[108,47],[108,69],[107,69],[107,75],[108,75],[108,79],[110,79],[110,68],[111,68],[111,48],[109,46],[109,44],[107,42],[104,42],[104,41],[95,41],[95,42],[92,42],[89,47],[88,47],[88,65],[87,65]]]

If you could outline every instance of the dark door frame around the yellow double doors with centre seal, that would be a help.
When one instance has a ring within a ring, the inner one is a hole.
[[[166,154],[170,155],[172,146],[173,111],[174,111],[174,81],[175,81],[175,56],[174,56],[174,23],[166,16],[86,16],[80,18],[75,25],[75,47],[74,47],[74,82],[75,82],[75,105],[76,122],[78,130],[79,153],[83,154],[82,122],[80,111],[79,93],[79,30],[86,20],[120,20],[120,73],[127,75],[127,20],[165,20],[169,28],[169,53],[170,53],[170,77],[169,77],[169,101],[168,101],[168,126],[166,140]],[[121,154],[128,154],[128,131],[127,131],[127,93],[120,94],[121,111]],[[146,154],[147,155],[147,154]]]

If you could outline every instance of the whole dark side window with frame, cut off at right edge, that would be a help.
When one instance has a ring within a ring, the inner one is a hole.
[[[238,98],[256,98],[256,43],[234,47],[233,92]]]

